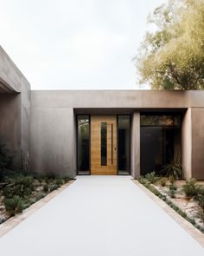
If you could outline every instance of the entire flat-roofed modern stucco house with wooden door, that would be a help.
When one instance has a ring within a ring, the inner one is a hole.
[[[0,48],[0,141],[33,172],[160,172],[180,155],[204,179],[204,91],[30,90]]]

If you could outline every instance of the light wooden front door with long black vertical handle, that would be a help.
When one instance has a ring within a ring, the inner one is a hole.
[[[91,116],[91,174],[117,174],[117,116]]]

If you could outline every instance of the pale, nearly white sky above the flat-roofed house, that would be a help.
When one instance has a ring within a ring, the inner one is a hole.
[[[0,44],[31,89],[139,89],[132,58],[165,0],[0,0]]]

